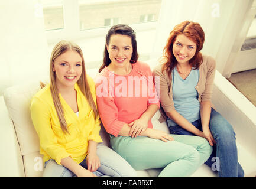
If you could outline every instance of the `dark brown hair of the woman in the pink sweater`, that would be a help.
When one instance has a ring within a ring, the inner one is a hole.
[[[135,31],[132,30],[131,27],[125,24],[117,24],[113,25],[109,31],[108,34],[106,34],[106,44],[105,44],[105,50],[104,50],[104,56],[103,56],[103,64],[99,68],[99,72],[103,70],[104,67],[108,66],[111,63],[111,60],[109,58],[107,46],[109,45],[109,40],[111,38],[111,35],[127,35],[131,38],[132,41],[132,57],[130,60],[130,63],[136,63],[138,60],[138,52],[137,52],[137,41],[136,41],[136,34]]]

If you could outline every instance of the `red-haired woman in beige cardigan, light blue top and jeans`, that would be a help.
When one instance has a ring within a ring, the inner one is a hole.
[[[213,152],[205,164],[219,177],[244,177],[234,130],[212,108],[215,60],[200,53],[204,41],[203,29],[195,22],[184,21],[170,32],[163,64],[153,71],[154,77],[160,77],[155,86],[160,86],[161,120],[167,121],[172,134],[207,139]]]

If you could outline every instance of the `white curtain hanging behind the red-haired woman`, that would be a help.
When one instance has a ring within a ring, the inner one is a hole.
[[[220,73],[230,73],[232,64],[227,64],[229,54],[252,2],[253,0],[162,0],[151,58],[162,55],[173,27],[189,20],[198,22],[205,31],[202,53],[215,58],[216,69]]]

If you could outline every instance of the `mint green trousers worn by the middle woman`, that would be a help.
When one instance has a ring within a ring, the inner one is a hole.
[[[189,177],[212,154],[212,146],[198,136],[171,135],[164,142],[147,136],[111,135],[111,146],[135,170],[163,168],[158,177]]]

